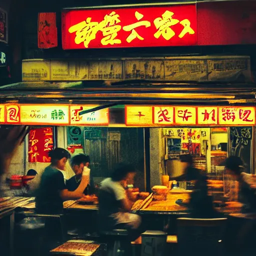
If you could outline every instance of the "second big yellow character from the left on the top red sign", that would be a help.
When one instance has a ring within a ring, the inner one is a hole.
[[[115,39],[117,32],[121,30],[121,26],[116,25],[119,22],[119,15],[114,11],[104,16],[104,20],[99,23],[100,30],[103,36],[105,36],[100,41],[102,45],[121,43],[120,39]]]

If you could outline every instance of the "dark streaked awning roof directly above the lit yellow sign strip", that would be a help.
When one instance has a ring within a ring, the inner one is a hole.
[[[147,80],[19,82],[0,87],[0,102],[226,105],[255,103],[255,84]]]

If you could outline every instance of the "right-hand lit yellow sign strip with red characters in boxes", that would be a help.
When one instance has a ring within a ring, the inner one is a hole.
[[[173,125],[254,125],[255,109],[252,106],[126,106],[125,120],[129,126]],[[152,116],[151,116],[152,114]],[[182,137],[180,131],[180,137]],[[184,139],[184,138],[183,138]]]

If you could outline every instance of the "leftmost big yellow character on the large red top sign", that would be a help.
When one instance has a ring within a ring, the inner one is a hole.
[[[79,44],[83,42],[85,48],[88,48],[90,41],[96,38],[96,33],[99,30],[98,22],[91,22],[90,20],[91,17],[87,17],[86,21],[83,20],[68,29],[69,33],[76,32],[74,38],[75,43]]]

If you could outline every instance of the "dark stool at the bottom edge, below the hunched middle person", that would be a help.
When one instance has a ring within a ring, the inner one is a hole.
[[[113,229],[100,231],[100,238],[107,244],[108,255],[124,256],[131,255],[131,244],[126,229]]]

